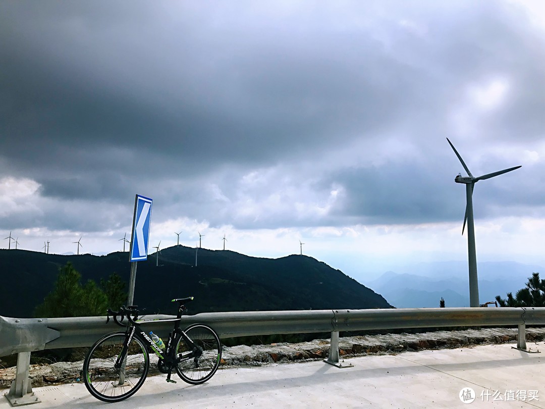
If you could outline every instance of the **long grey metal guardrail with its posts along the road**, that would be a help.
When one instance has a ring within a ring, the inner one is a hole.
[[[146,318],[174,318],[174,316],[151,315]],[[342,331],[516,325],[519,327],[517,347],[525,350],[525,325],[545,324],[545,308],[207,312],[181,317],[182,328],[195,322],[208,324],[216,330],[220,338],[331,332],[331,348],[327,362],[336,364],[338,363],[338,333]],[[143,324],[142,327],[153,329],[154,333],[166,337],[172,329],[172,322],[152,322]],[[37,402],[34,397],[28,398],[32,392],[28,381],[31,352],[90,346],[100,336],[117,329],[113,322],[106,324],[106,317],[8,318],[0,316],[0,357],[19,353],[16,379],[8,394],[11,404],[16,406]],[[32,401],[28,401],[27,398]]]

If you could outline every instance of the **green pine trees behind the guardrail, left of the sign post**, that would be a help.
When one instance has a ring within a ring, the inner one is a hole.
[[[93,280],[81,284],[81,274],[71,262],[59,268],[54,290],[37,306],[39,317],[84,317],[105,315],[108,306],[119,308],[126,300],[125,284],[112,273],[108,280],[101,279],[100,287]]]

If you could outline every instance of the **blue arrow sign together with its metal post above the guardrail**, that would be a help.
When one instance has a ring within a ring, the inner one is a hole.
[[[152,221],[153,200],[136,195],[135,212],[132,217],[131,246],[129,261],[131,262],[131,278],[129,282],[128,305],[134,303],[136,283],[136,263],[148,259],[149,226]]]

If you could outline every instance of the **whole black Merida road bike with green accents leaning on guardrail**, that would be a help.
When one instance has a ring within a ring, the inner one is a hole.
[[[152,351],[159,358],[159,371],[167,374],[167,382],[176,383],[171,380],[173,370],[191,384],[206,382],[214,376],[221,360],[219,336],[205,324],[180,328],[180,318],[187,310],[185,303],[191,300],[193,297],[173,299],[172,302],[178,302],[178,315],[164,320],[138,319],[137,305],[122,306],[119,311],[108,309],[106,323],[112,316],[116,324],[126,329],[102,336],[87,352],[83,382],[90,394],[105,402],[118,402],[132,396],[148,376]],[[124,317],[128,318],[126,324],[122,323]],[[173,321],[174,328],[162,350],[140,326],[167,321]]]

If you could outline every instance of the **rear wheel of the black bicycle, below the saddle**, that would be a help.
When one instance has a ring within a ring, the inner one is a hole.
[[[214,330],[204,324],[193,324],[184,330],[195,347],[188,345],[180,336],[175,347],[179,360],[175,366],[178,376],[187,383],[199,384],[208,381],[220,366],[220,338]]]

